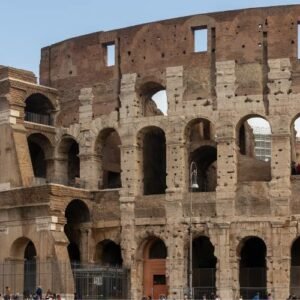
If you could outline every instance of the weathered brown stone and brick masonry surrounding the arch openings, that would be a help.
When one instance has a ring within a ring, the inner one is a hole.
[[[300,228],[300,182],[290,176],[291,125],[300,114],[299,15],[299,5],[248,9],[73,38],[42,49],[41,83],[49,87],[36,85],[28,72],[0,69],[0,190],[8,189],[0,193],[0,238],[8,245],[1,247],[0,259],[10,256],[13,241],[26,236],[40,257],[68,260],[65,211],[79,199],[90,213],[90,221],[78,228],[82,261],[93,262],[103,240],[120,244],[123,266],[131,269],[132,299],[143,296],[144,247],[153,237],[168,249],[169,294],[182,299],[190,233],[209,237],[214,246],[222,299],[239,294],[245,240],[261,238],[267,288],[285,299],[291,247]],[[195,53],[193,28],[201,27],[208,29],[208,48]],[[116,60],[108,67],[105,49],[112,42]],[[153,83],[166,89],[166,116],[144,113]],[[24,122],[25,100],[32,93],[49,98],[54,126]],[[240,154],[239,128],[252,116],[270,123],[270,163]],[[187,132],[197,120],[210,124],[210,136],[191,141]],[[145,196],[142,137],[153,128],[165,135],[167,188]],[[120,138],[120,164],[113,161],[122,187],[99,191],[107,168],[99,149],[107,131]],[[34,133],[49,141],[50,171],[45,185],[29,188],[34,176],[26,138]],[[65,180],[70,140],[79,147],[76,187]],[[215,191],[190,191],[190,152],[198,146],[216,148]]]

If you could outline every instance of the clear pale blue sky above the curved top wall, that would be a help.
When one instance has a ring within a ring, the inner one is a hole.
[[[284,0],[0,0],[0,65],[38,75],[40,49],[61,40],[179,16]]]

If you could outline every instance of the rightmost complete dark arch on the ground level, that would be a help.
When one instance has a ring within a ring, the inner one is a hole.
[[[240,294],[243,299],[252,299],[257,293],[266,296],[267,290],[267,248],[258,237],[249,237],[243,241],[240,251]]]

